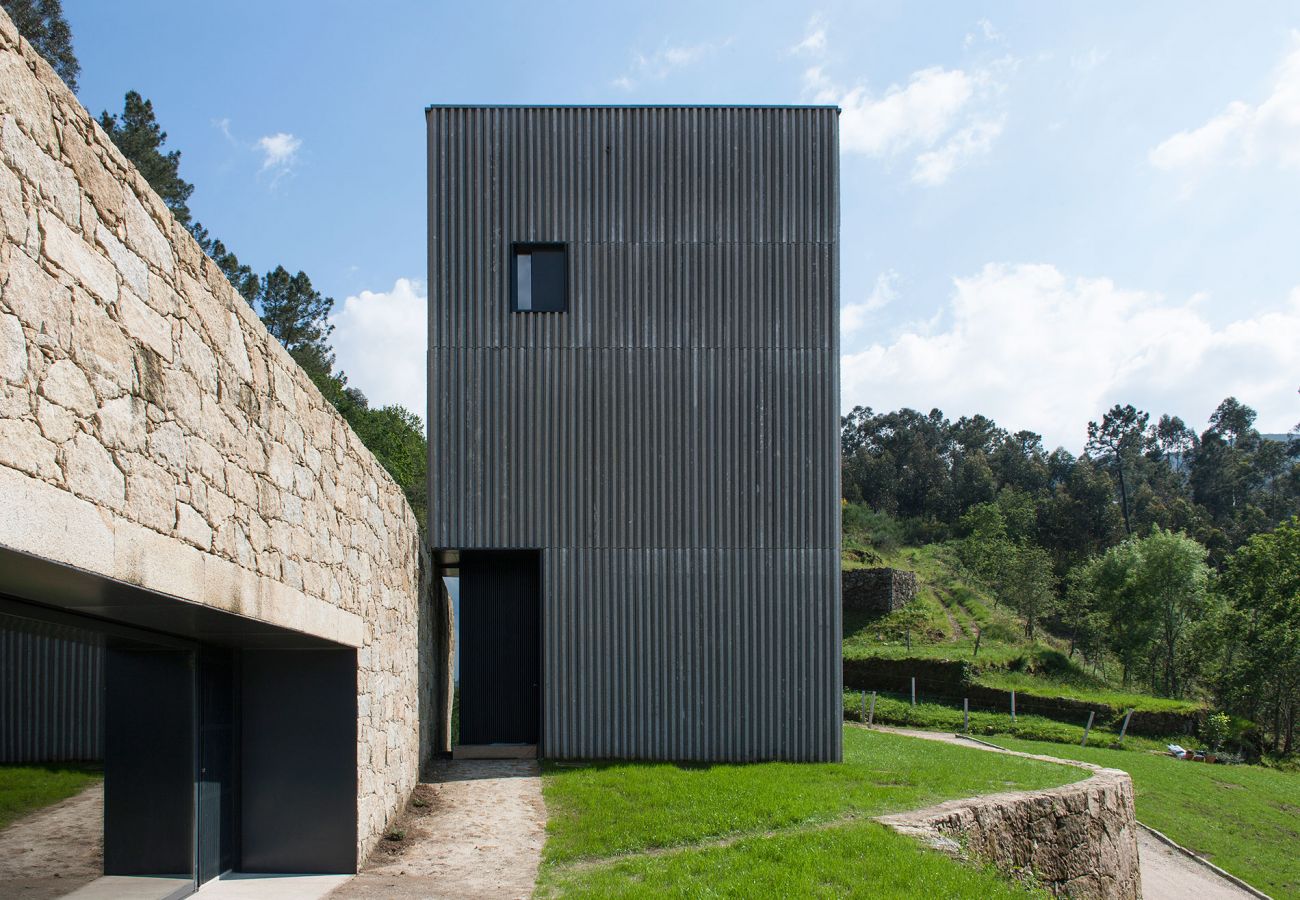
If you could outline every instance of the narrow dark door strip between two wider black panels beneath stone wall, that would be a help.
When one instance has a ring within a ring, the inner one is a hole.
[[[235,867],[235,678],[233,652],[199,650],[198,883]]]

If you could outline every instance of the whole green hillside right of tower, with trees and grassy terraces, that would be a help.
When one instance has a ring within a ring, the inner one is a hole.
[[[1115,406],[1086,453],[939,410],[841,420],[846,567],[920,597],[845,619],[845,687],[1300,750],[1300,429],[1225,399],[1196,433]],[[978,648],[978,652],[976,652]],[[909,671],[911,670],[911,671]],[[1020,706],[1020,701],[1024,706]],[[1226,724],[1225,724],[1226,723]]]

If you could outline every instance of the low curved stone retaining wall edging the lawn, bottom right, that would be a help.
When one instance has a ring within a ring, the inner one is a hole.
[[[1118,769],[1074,765],[1092,770],[1092,776],[1046,791],[950,800],[878,821],[1004,874],[1032,873],[1056,896],[1135,900],[1141,874],[1132,780]]]

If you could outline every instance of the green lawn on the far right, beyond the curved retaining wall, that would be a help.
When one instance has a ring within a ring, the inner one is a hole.
[[[1300,897],[1300,773],[997,737],[1011,750],[1123,769],[1138,818],[1279,900]]]

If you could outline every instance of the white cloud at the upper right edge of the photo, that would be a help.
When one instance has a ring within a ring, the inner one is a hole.
[[[1162,140],[1148,159],[1166,170],[1204,170],[1217,164],[1300,168],[1300,31],[1291,33],[1291,49],[1264,101],[1234,100],[1204,125]]]

